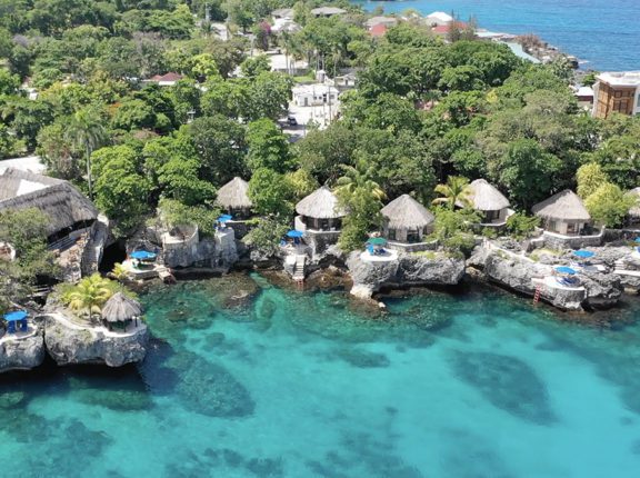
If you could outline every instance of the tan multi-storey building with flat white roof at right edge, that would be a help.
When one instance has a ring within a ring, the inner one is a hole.
[[[596,118],[611,113],[640,113],[640,71],[608,72],[598,74],[593,84],[593,110]]]

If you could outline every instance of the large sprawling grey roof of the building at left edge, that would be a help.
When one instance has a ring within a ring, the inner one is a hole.
[[[70,182],[7,168],[0,175],[0,211],[27,208],[40,209],[49,218],[49,236],[98,218],[93,203]]]

